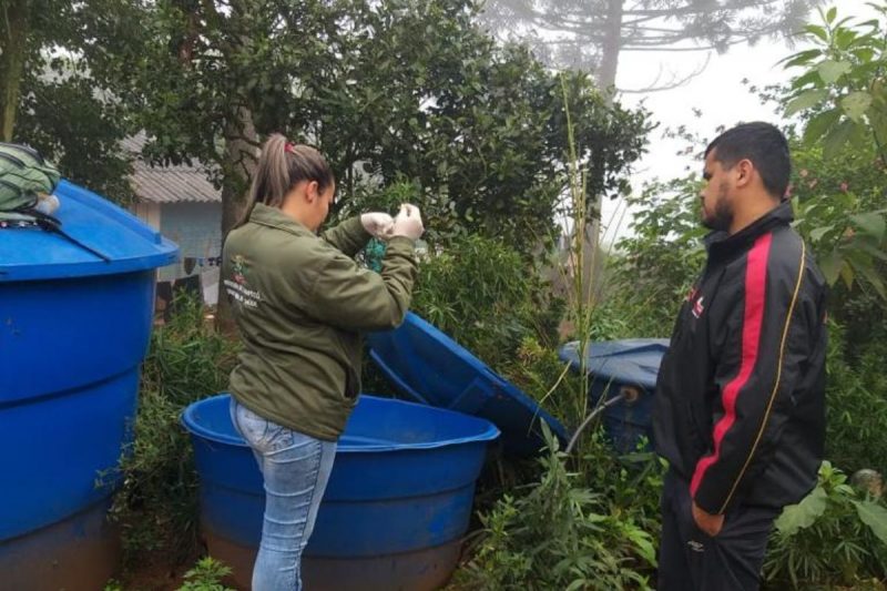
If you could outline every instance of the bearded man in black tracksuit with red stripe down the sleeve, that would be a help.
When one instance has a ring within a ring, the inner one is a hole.
[[[814,487],[825,440],[822,273],[791,226],[785,136],[726,131],[705,152],[707,262],[656,383],[660,590],[757,589],[773,521]]]

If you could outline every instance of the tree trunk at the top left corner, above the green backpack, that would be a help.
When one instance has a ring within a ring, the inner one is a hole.
[[[0,140],[12,141],[21,78],[28,51],[30,0],[9,0],[0,8]]]

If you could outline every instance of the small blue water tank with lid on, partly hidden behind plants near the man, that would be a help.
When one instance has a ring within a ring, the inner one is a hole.
[[[621,452],[635,451],[641,441],[653,438],[653,391],[659,366],[669,349],[667,338],[629,338],[590,343],[585,350],[585,371],[589,375],[593,404],[609,399],[625,389],[633,397],[614,404],[604,411],[603,422],[613,447]],[[574,371],[580,370],[579,343],[568,343],[560,358]]]

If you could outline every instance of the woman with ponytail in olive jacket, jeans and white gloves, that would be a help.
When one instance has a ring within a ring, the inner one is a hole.
[[[416,278],[419,210],[366,213],[318,234],[335,194],[317,150],[272,135],[222,253],[244,345],[231,416],[265,481],[253,591],[302,589],[302,551],[360,390],[360,334],[402,323]],[[374,236],[388,243],[381,273],[353,258]]]

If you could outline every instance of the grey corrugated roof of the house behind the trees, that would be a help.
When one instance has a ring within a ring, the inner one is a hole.
[[[145,134],[123,140],[123,150],[133,156],[132,187],[139,201],[146,203],[222,203],[222,191],[206,177],[207,166],[175,164],[152,166],[142,157]]]

